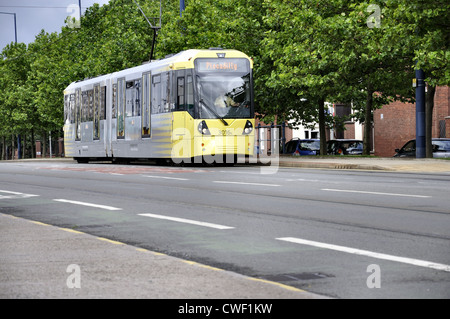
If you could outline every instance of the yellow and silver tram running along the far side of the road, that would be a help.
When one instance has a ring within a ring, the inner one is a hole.
[[[211,48],[71,83],[65,156],[174,163],[253,156],[252,68],[240,51]]]

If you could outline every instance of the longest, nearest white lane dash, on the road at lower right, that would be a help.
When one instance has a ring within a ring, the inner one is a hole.
[[[282,237],[282,238],[276,238],[276,239],[291,242],[291,243],[296,243],[296,244],[314,246],[314,247],[319,247],[319,248],[324,248],[324,249],[331,249],[331,250],[341,251],[341,252],[345,252],[345,253],[349,253],[349,254],[368,256],[368,257],[373,257],[373,258],[377,258],[377,259],[396,261],[396,262],[410,264],[410,265],[414,265],[414,266],[420,266],[420,267],[426,267],[426,268],[450,272],[450,265],[439,264],[439,263],[435,263],[432,261],[381,254],[381,253],[376,253],[376,252],[369,251],[369,250],[361,250],[361,249],[356,249],[356,248],[351,248],[351,247],[326,244],[326,243],[321,243],[318,241],[311,241],[311,240],[295,238],[295,237]]]

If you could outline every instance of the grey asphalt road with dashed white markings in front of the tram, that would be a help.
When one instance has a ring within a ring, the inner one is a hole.
[[[449,175],[261,172],[4,162],[0,213],[329,297],[450,298]]]

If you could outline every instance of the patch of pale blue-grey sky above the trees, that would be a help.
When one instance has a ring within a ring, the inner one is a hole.
[[[94,3],[103,5],[109,0],[81,0],[82,14]],[[79,0],[0,0],[0,52],[15,41],[14,15],[16,14],[17,42],[27,45],[35,40],[42,29],[48,33],[61,32],[68,16],[75,16]],[[8,14],[5,14],[8,13]]]

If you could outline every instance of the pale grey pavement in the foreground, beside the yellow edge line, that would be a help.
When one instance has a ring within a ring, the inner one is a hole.
[[[323,297],[70,229],[0,214],[0,298]]]

